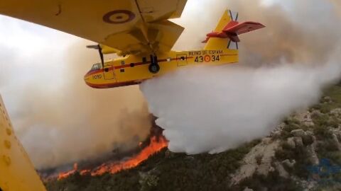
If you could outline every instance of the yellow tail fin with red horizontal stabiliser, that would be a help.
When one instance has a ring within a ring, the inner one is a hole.
[[[238,13],[229,10],[225,11],[217,28],[212,33],[208,33],[206,40],[203,41],[207,43],[205,50],[238,50],[238,42],[240,42],[238,35],[265,27],[261,23],[252,21],[239,23],[237,20]]]

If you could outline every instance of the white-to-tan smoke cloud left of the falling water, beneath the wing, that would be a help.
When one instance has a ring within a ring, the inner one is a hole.
[[[97,158],[146,138],[151,120],[138,86],[85,85],[84,74],[99,62],[85,48],[94,42],[6,17],[0,25],[8,26],[0,30],[0,92],[36,168]]]

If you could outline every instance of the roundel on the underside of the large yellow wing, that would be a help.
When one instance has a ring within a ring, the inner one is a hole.
[[[110,24],[122,24],[133,21],[135,14],[128,10],[110,11],[103,16],[103,21]]]

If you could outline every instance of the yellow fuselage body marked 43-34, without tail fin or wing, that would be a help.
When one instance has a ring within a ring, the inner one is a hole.
[[[85,82],[92,88],[114,88],[139,84],[146,79],[160,76],[184,66],[220,65],[238,62],[238,50],[193,50],[158,55],[159,69],[151,69],[153,56],[128,55],[112,62],[94,64],[85,75]]]

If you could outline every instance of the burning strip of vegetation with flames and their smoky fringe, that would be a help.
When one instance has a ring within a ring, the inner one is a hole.
[[[40,176],[43,180],[63,180],[79,173],[80,175],[98,176],[104,173],[118,173],[121,170],[126,170],[138,166],[141,162],[146,161],[149,156],[158,153],[161,149],[168,146],[168,141],[163,137],[163,129],[156,126],[155,123],[151,127],[151,133],[146,141],[140,142],[139,146],[130,151],[119,151],[115,149],[112,155],[98,159],[97,161],[81,161],[74,163],[72,170],[49,169],[41,170]]]

